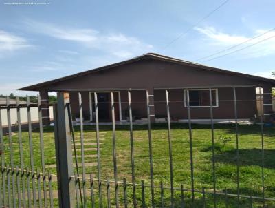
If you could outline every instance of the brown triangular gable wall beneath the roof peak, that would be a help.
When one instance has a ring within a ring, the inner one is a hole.
[[[78,76],[47,86],[47,90],[153,89],[154,87],[197,87],[213,85],[265,85],[243,76],[145,59],[109,70]]]

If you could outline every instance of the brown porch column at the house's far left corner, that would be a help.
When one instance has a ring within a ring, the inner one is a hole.
[[[40,90],[39,95],[41,97],[41,107],[42,107],[42,122],[43,125],[50,125],[50,102],[49,94],[47,90]]]

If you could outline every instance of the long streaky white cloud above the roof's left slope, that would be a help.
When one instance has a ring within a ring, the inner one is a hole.
[[[92,48],[118,56],[130,56],[149,52],[153,46],[143,43],[136,37],[129,37],[122,33],[103,33],[92,28],[66,28],[50,23],[25,21],[33,32],[47,35],[63,41],[72,41],[85,48]]]

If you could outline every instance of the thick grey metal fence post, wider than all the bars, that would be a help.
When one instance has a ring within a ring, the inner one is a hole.
[[[58,178],[58,202],[60,208],[75,207],[74,168],[69,126],[69,93],[58,92],[54,105],[54,133],[56,144],[56,171]]]

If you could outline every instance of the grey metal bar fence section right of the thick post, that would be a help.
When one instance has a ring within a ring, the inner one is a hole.
[[[165,91],[166,93],[166,141],[168,143],[168,166],[170,169],[170,174],[168,177],[170,178],[170,183],[164,183],[162,181],[159,181],[158,179],[155,180],[155,176],[157,175],[158,169],[155,169],[154,162],[156,162],[157,159],[153,159],[153,138],[152,138],[152,124],[151,124],[151,107],[152,103],[150,101],[150,94],[148,91],[146,91],[146,101],[144,103],[140,103],[140,105],[144,105],[146,107],[147,111],[147,135],[146,135],[146,141],[148,142],[148,178],[137,178],[136,173],[139,171],[135,164],[137,163],[137,160],[139,158],[135,158],[135,125],[133,122],[133,116],[132,116],[132,102],[131,102],[131,91],[128,91],[128,107],[129,107],[129,123],[127,123],[127,126],[129,128],[129,136],[127,138],[129,139],[129,147],[124,148],[130,148],[131,154],[128,158],[130,160],[129,167],[131,167],[131,171],[129,171],[127,178],[119,178],[118,176],[118,153],[117,153],[117,146],[118,146],[118,125],[115,122],[115,102],[113,99],[113,93],[111,94],[111,128],[109,131],[112,132],[111,134],[111,140],[109,140],[109,143],[111,143],[111,146],[109,147],[109,154],[111,155],[112,164],[109,168],[104,168],[104,165],[102,165],[102,157],[101,157],[101,149],[100,149],[100,139],[104,136],[100,134],[100,122],[98,119],[98,95],[95,92],[94,93],[94,102],[95,102],[95,112],[96,112],[96,128],[93,129],[93,131],[96,133],[96,169],[94,172],[91,173],[91,175],[87,174],[86,168],[85,168],[85,137],[89,136],[89,134],[85,135],[85,129],[83,129],[83,105],[87,103],[82,102],[81,93],[79,93],[79,110],[80,110],[80,126],[79,126],[79,139],[80,139],[80,161],[78,161],[78,171],[76,171],[76,175],[74,177],[71,176],[71,178],[74,178],[74,183],[76,191],[76,195],[72,194],[74,192],[68,192],[67,196],[63,196],[63,198],[66,202],[70,201],[73,204],[75,203],[74,200],[76,200],[76,204],[78,206],[88,206],[88,207],[252,207],[252,206],[272,206],[274,205],[273,201],[274,198],[265,196],[265,148],[264,148],[264,132],[263,132],[263,116],[261,116],[261,121],[259,121],[259,131],[256,132],[259,136],[259,151],[260,154],[256,156],[257,158],[260,157],[261,164],[259,171],[259,176],[261,178],[261,193],[254,193],[252,190],[249,194],[249,191],[243,190],[240,187],[240,183],[243,182],[243,178],[240,178],[240,167],[242,164],[240,163],[240,154],[239,154],[239,124],[238,124],[238,110],[237,110],[237,101],[236,100],[236,89],[232,88],[234,99],[230,100],[230,102],[234,105],[234,125],[233,131],[234,131],[234,154],[235,154],[235,176],[234,179],[236,180],[236,190],[232,189],[232,187],[223,187],[223,189],[217,189],[217,161],[216,161],[216,150],[215,150],[215,129],[214,129],[214,122],[213,122],[213,107],[212,104],[209,107],[210,111],[210,137],[208,138],[211,147],[210,150],[212,152],[211,156],[211,169],[205,170],[210,171],[212,174],[211,180],[212,185],[211,187],[203,187],[200,188],[195,185],[195,164],[196,161],[194,160],[194,141],[193,141],[193,132],[194,129],[192,128],[192,118],[191,118],[191,108],[189,106],[189,101],[187,102],[187,110],[188,110],[188,125],[186,126],[186,129],[188,129],[188,143],[185,143],[185,145],[188,145],[189,152],[185,154],[190,154],[190,165],[186,165],[186,167],[190,167],[190,184],[187,185],[187,187],[184,187],[183,184],[179,184],[177,181],[177,186],[175,185],[175,177],[179,178],[179,171],[175,174],[175,161],[173,160],[173,148],[172,148],[172,139],[173,139],[173,129],[171,129],[171,121],[170,121],[170,104],[173,101],[169,101],[169,93],[168,90]],[[209,92],[211,92],[211,89],[209,89]],[[209,94],[210,96],[210,103],[212,103],[212,94]],[[63,98],[61,98],[63,100]],[[60,101],[61,102],[61,101]],[[221,102],[221,101],[220,101]],[[229,101],[227,101],[229,102]],[[256,102],[256,99],[254,100]],[[155,101],[157,103],[157,101]],[[72,103],[70,103],[72,104]],[[63,110],[65,108],[65,111],[70,112],[70,104],[69,101],[63,102],[61,104],[60,109]],[[63,135],[63,137],[67,136],[67,141],[72,141],[72,145],[74,146],[74,131],[72,127],[72,123],[70,121],[72,120],[72,114],[68,114],[67,118],[67,129],[69,132],[71,132],[71,135]],[[164,126],[165,126],[164,125]],[[154,126],[154,125],[153,125]],[[59,126],[57,125],[57,128]],[[63,128],[66,128],[63,126]],[[103,131],[104,131],[104,127]],[[65,131],[67,132],[67,131]],[[59,135],[62,137],[62,135]],[[144,135],[143,135],[144,136]],[[68,145],[68,144],[67,144]],[[69,144],[70,146],[71,144]],[[64,147],[67,148],[67,147]],[[75,149],[75,147],[74,147]],[[78,158],[76,156],[76,150],[74,151],[74,154],[71,155],[69,152],[69,149],[67,149],[67,154],[69,156],[73,156],[74,158]],[[106,153],[105,153],[106,154]],[[251,160],[256,158],[250,158]],[[65,157],[65,161],[61,160],[59,163],[67,163],[69,164],[69,161],[72,160],[72,158]],[[93,159],[91,159],[93,160]],[[121,162],[121,160],[120,160]],[[76,161],[77,163],[77,161]],[[124,163],[128,163],[126,160]],[[110,164],[108,164],[110,165]],[[145,165],[145,164],[144,164]],[[218,164],[219,165],[219,164]],[[64,171],[64,170],[63,170]],[[111,173],[111,172],[113,173]],[[81,172],[81,173],[80,173]],[[65,173],[61,173],[62,176],[67,174],[67,170],[65,170]],[[203,173],[202,173],[203,174]],[[88,176],[89,175],[89,176]],[[102,178],[102,175],[107,176],[107,178]],[[131,178],[129,178],[129,175],[131,175]],[[67,174],[67,177],[70,177],[69,174]],[[110,179],[112,178],[112,179]],[[273,178],[269,178],[270,180],[273,180]],[[209,180],[209,179],[208,179]],[[241,182],[240,182],[241,181]],[[75,188],[74,187],[74,188]],[[250,190],[250,187],[247,187],[248,190]],[[270,187],[268,188],[270,189]],[[245,194],[242,194],[244,193]],[[69,194],[71,193],[71,194]],[[96,193],[96,194],[95,194]],[[167,196],[168,194],[168,196]],[[168,202],[170,201],[170,202]],[[61,201],[60,201],[61,202]],[[62,202],[61,202],[62,203]],[[69,206],[69,204],[67,204]],[[73,205],[74,206],[74,205]]]

